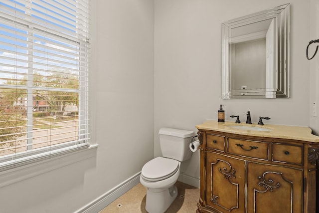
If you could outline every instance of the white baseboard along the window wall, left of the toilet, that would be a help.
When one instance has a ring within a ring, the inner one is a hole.
[[[75,213],[98,213],[140,183],[141,172],[122,182]]]

